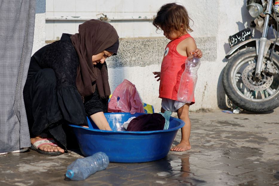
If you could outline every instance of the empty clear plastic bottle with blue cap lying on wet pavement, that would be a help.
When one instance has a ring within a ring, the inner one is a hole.
[[[68,165],[66,177],[71,180],[84,180],[97,171],[104,170],[109,165],[109,157],[98,152],[86,158],[79,158]]]

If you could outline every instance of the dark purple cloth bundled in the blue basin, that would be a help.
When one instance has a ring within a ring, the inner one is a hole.
[[[130,121],[126,131],[163,130],[165,118],[158,113],[140,115]]]

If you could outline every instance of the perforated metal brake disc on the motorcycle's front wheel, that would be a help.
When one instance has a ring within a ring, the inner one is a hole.
[[[252,63],[248,65],[242,72],[243,84],[250,90],[261,91],[267,89],[273,81],[273,76],[264,75],[264,78],[260,82],[253,80],[252,74],[255,71],[256,64]]]

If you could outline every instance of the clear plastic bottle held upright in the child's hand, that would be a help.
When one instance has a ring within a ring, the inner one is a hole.
[[[195,86],[198,79],[197,71],[201,62],[193,53],[185,61],[185,70],[182,73],[177,100],[184,103],[191,103],[194,97]]]

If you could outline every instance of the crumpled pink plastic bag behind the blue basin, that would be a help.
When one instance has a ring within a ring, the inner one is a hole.
[[[131,114],[136,112],[144,113],[141,98],[133,83],[125,79],[116,87],[110,98],[108,111],[130,112]]]

